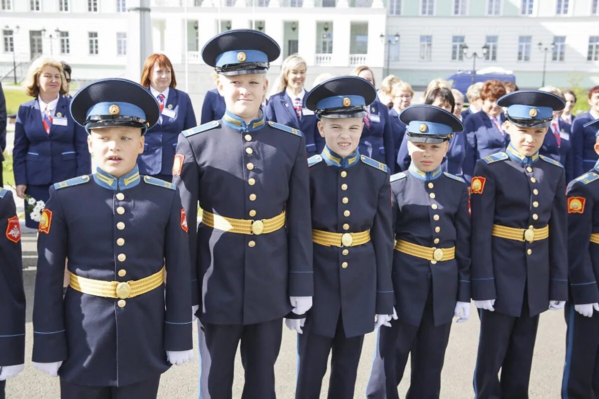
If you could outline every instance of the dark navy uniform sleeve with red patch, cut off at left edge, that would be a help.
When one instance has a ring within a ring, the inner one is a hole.
[[[21,232],[13,193],[0,188],[0,367],[25,363]]]

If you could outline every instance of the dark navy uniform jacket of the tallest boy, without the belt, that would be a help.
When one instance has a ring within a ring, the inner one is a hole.
[[[267,122],[264,115],[246,124],[226,111],[221,121],[181,133],[177,157],[183,157],[183,167],[174,171],[173,181],[192,226],[189,246],[197,280],[192,286],[202,322],[271,321],[291,310],[289,296],[312,296],[310,195],[301,133]],[[255,236],[200,224],[196,231],[198,202],[205,211],[244,220],[286,211],[286,229]]]

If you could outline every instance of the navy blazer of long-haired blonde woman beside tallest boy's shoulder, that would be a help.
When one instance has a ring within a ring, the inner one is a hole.
[[[272,95],[268,99],[264,115],[267,120],[300,130],[305,138],[305,152],[308,157],[320,153],[325,147],[325,139],[318,132],[316,126],[318,118],[314,115],[314,112],[303,106],[301,118],[298,118],[295,113],[294,102],[285,90]]]

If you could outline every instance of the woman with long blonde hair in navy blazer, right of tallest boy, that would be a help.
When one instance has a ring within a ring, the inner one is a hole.
[[[270,96],[264,115],[267,120],[294,127],[304,133],[308,157],[322,152],[325,141],[320,137],[314,112],[304,106],[306,63],[297,54],[283,60],[281,74]]]

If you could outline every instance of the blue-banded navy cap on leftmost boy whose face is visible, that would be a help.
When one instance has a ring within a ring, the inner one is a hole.
[[[156,99],[140,84],[126,79],[103,79],[88,84],[71,100],[73,119],[90,129],[139,127],[141,134],[158,121]]]

